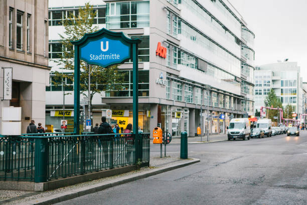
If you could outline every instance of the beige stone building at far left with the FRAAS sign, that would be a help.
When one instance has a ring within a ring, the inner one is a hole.
[[[48,1],[4,0],[0,10],[0,112],[3,107],[22,107],[22,133],[26,133],[32,119],[45,125],[50,73]],[[8,83],[4,79],[6,68],[12,69],[12,82],[4,93],[4,81]],[[7,91],[12,94],[9,99],[4,98]]]

